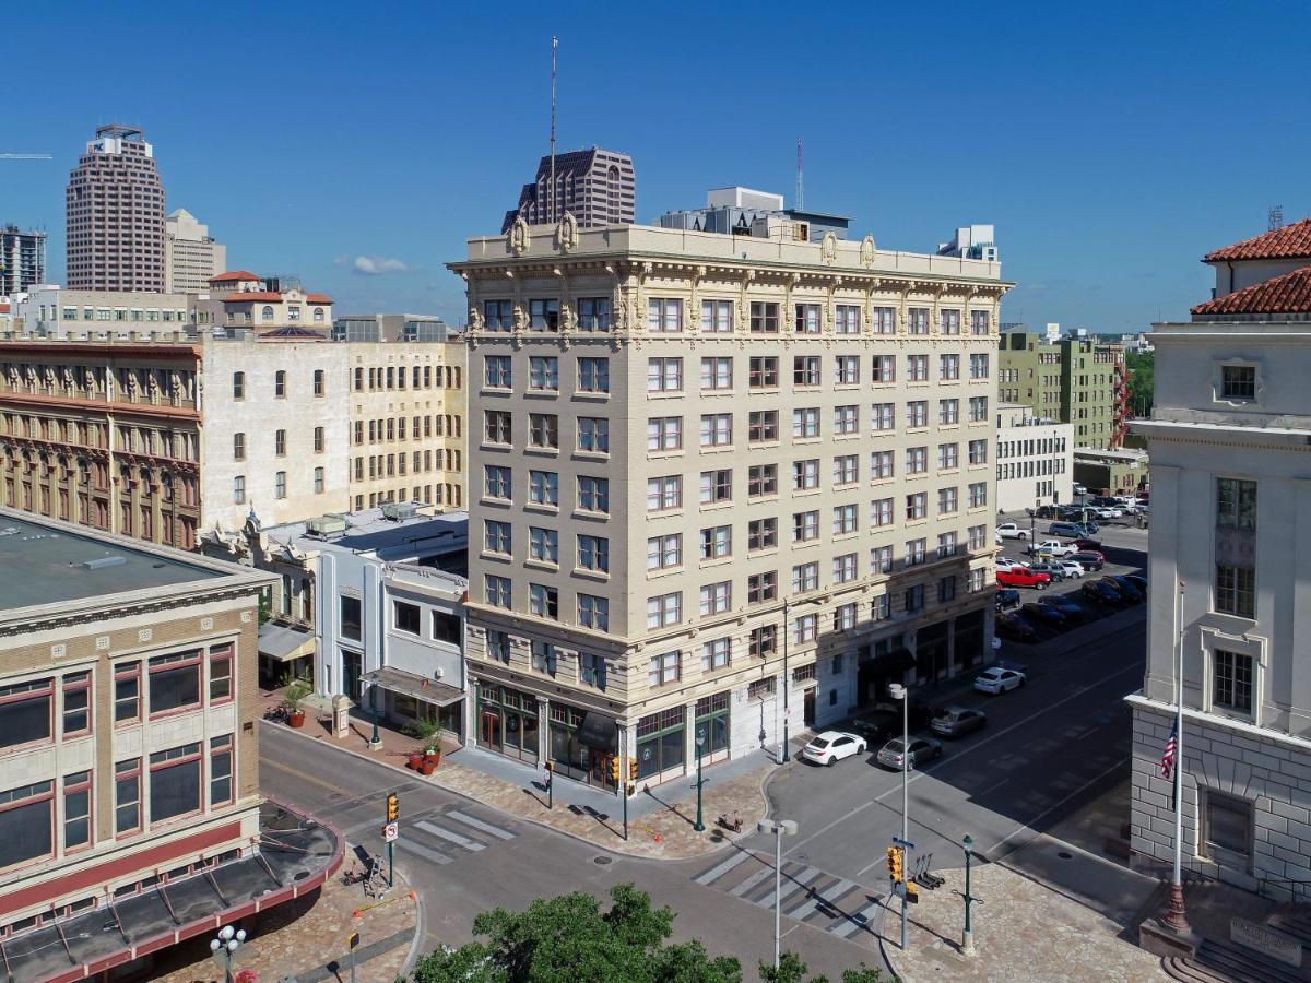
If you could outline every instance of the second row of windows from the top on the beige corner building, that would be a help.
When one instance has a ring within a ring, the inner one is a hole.
[[[779,358],[776,355],[753,355],[747,359],[747,384],[751,389],[779,388]],[[705,357],[700,363],[701,392],[726,392],[734,385],[734,359],[732,355]],[[906,381],[927,383],[928,355],[906,357]],[[484,355],[482,381],[489,389],[514,388],[514,363],[510,355]],[[582,357],[574,363],[574,392],[608,393],[610,359]],[[947,354],[937,357],[939,381],[957,381],[961,377],[961,357]],[[969,377],[983,380],[988,377],[988,357],[977,353],[969,357]],[[871,360],[869,381],[891,384],[897,381],[897,359],[894,355],[874,355]],[[860,384],[860,355],[834,355],[834,385]],[[792,385],[794,388],[817,388],[825,384],[823,359],[819,355],[796,355],[792,359]],[[646,392],[682,393],[683,358],[650,358],[646,362]],[[560,392],[560,358],[557,355],[532,355],[528,358],[528,392]]]

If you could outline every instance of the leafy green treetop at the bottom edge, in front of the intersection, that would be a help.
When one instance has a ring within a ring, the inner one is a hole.
[[[699,941],[670,944],[674,912],[652,908],[631,883],[610,891],[610,911],[582,891],[494,908],[473,919],[475,941],[443,946],[414,967],[414,983],[741,983],[730,955]]]

